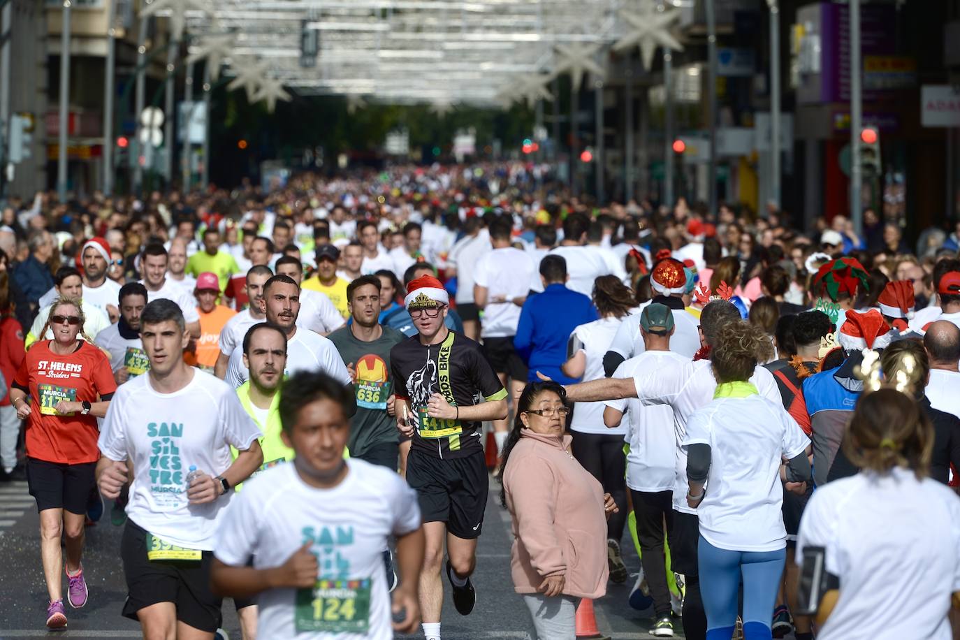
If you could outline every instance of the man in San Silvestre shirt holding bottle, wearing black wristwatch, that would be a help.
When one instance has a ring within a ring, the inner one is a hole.
[[[120,388],[98,442],[105,496],[133,475],[123,615],[144,637],[212,638],[222,620],[209,587],[215,533],[230,488],[263,462],[261,434],[228,385],[183,362],[189,335],[176,303],[149,303],[140,326],[150,370]],[[240,451],[232,462],[230,446]]]

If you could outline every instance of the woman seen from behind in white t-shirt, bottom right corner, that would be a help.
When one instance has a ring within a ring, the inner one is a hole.
[[[926,477],[933,440],[910,395],[885,387],[860,397],[844,448],[862,471],[813,493],[797,541],[798,564],[820,560],[827,575],[826,595],[811,603],[818,640],[952,637],[960,500]]]

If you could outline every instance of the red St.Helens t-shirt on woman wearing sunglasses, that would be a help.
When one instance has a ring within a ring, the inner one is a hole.
[[[98,396],[117,390],[107,356],[82,342],[65,356],[50,350],[50,341],[34,344],[13,379],[30,390],[27,419],[27,456],[46,462],[82,464],[97,462],[97,418],[93,415],[55,415],[60,400],[96,402]]]

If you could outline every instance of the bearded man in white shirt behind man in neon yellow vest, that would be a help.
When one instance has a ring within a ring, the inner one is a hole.
[[[275,275],[263,286],[261,308],[267,321],[279,326],[287,334],[287,367],[285,374],[297,371],[322,371],[350,388],[353,397],[353,378],[344,364],[337,347],[329,340],[308,329],[297,326],[300,314],[300,286],[286,275]],[[250,371],[243,364],[243,348],[234,348],[227,365],[225,380],[236,389],[247,382]],[[356,411],[354,398],[354,409]]]

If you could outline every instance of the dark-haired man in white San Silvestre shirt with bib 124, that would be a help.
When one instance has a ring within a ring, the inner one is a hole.
[[[284,383],[282,439],[296,451],[294,462],[245,486],[219,532],[213,587],[257,597],[270,637],[387,640],[420,620],[416,494],[390,469],[344,460],[348,397],[323,373]],[[402,577],[392,603],[380,559],[391,534]]]

